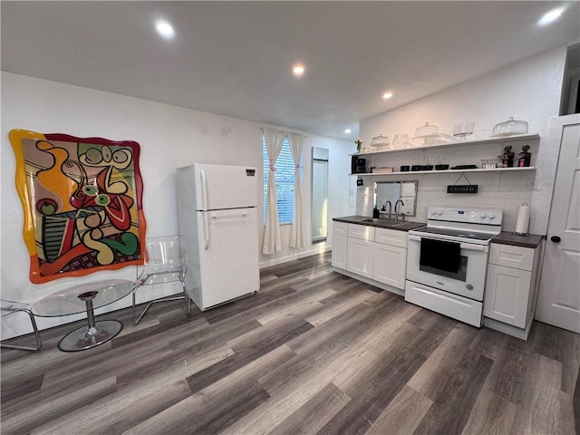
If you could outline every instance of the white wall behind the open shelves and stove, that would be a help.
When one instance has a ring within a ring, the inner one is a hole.
[[[425,121],[438,126],[439,132],[448,134],[452,134],[456,122],[475,121],[474,136],[484,138],[495,124],[507,121],[510,116],[527,121],[529,131],[539,133],[540,138],[546,136],[548,120],[558,115],[560,107],[565,53],[565,47],[551,50],[361,121],[362,146],[368,146],[372,137],[379,133],[390,140],[400,133],[407,133],[412,138],[415,129]],[[422,140],[415,142],[420,144]],[[418,216],[411,220],[424,222],[430,206],[501,208],[504,210],[504,229],[513,231],[517,206],[527,202],[531,211],[530,232],[546,234],[558,150],[550,149],[550,145],[540,139],[513,144],[516,154],[526,143],[532,147],[532,165],[537,167],[536,173],[469,174],[469,181],[479,185],[476,195],[446,193],[446,186],[454,184],[458,178],[456,174],[369,177],[364,179],[366,186],[357,189],[357,213],[372,215],[372,188],[369,186],[372,180],[418,179]],[[439,162],[442,156],[444,163],[451,166],[460,163],[479,166],[480,159],[497,156],[502,149],[503,145],[425,153],[405,151],[383,155],[373,160],[372,165],[398,168],[401,164],[426,164],[429,157]]]

